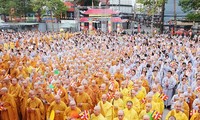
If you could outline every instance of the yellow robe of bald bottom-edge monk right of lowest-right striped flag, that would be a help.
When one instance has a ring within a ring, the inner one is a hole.
[[[170,116],[174,116],[176,118],[176,120],[188,120],[185,113],[183,113],[181,111],[177,113],[175,110],[172,110],[167,114],[165,119],[168,120]]]

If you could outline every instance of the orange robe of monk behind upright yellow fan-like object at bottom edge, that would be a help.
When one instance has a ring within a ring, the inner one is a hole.
[[[65,112],[66,108],[67,108],[67,106],[65,105],[65,103],[63,101],[60,101],[59,104],[57,104],[55,101],[52,102],[47,110],[47,119],[50,118],[50,114],[51,114],[52,110],[54,110],[54,112],[55,112],[54,120],[64,120],[64,118],[65,118],[64,112]],[[56,113],[56,110],[59,110],[60,113]]]

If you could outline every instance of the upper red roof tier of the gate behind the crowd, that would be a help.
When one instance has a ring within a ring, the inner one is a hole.
[[[88,9],[83,14],[87,15],[112,15],[118,14],[119,12],[113,11],[112,9]]]

